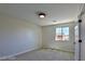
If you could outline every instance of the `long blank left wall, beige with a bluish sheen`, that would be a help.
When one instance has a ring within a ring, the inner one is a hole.
[[[41,27],[0,15],[0,57],[42,47]]]

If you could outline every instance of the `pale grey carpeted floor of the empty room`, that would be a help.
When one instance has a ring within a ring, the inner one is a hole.
[[[17,55],[13,61],[73,61],[73,56],[70,52],[41,49]]]

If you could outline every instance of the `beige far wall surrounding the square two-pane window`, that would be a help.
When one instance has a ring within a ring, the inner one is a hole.
[[[57,26],[69,26],[70,28],[70,40],[69,41],[55,41],[55,34]],[[74,23],[68,24],[59,24],[59,25],[52,25],[52,26],[43,26],[43,48],[54,48],[60,49],[65,51],[74,51]]]

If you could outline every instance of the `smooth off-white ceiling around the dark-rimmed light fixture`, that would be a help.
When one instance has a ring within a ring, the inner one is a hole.
[[[11,3],[0,4],[0,13],[44,26],[72,22],[80,14],[82,7],[81,3]],[[44,12],[46,17],[39,18],[37,12]]]

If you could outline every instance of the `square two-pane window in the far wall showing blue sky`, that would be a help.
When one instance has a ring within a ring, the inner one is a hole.
[[[69,40],[69,27],[57,27],[55,40]]]

